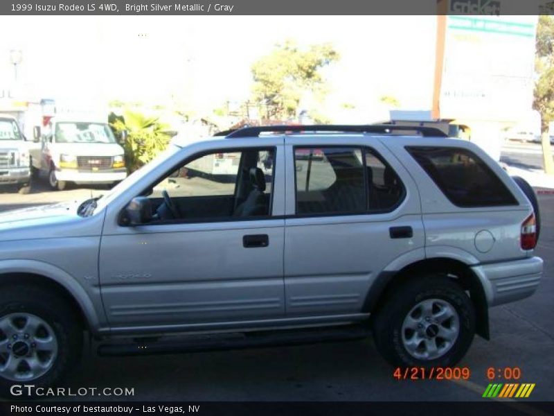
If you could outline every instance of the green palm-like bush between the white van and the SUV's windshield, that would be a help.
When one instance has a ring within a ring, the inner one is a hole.
[[[159,122],[157,117],[149,117],[139,112],[126,110],[123,116],[109,117],[116,137],[122,137],[125,150],[125,164],[129,172],[150,162],[168,146],[170,134],[168,125]],[[123,139],[123,132],[127,137]]]

